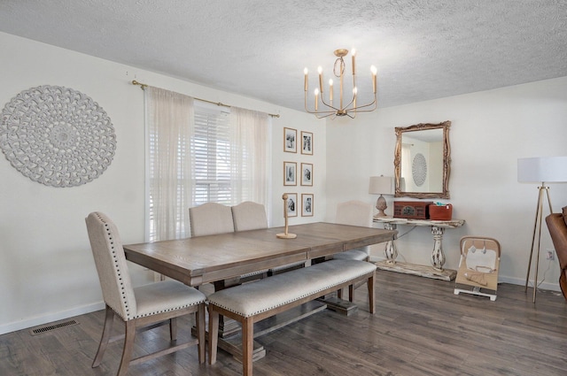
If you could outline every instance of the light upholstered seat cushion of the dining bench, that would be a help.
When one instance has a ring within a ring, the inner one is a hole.
[[[365,261],[330,260],[273,277],[226,288],[209,303],[248,318],[376,271]]]

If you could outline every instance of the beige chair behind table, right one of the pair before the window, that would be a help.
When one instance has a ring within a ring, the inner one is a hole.
[[[232,206],[232,219],[234,220],[235,231],[258,230],[268,228],[268,218],[266,209],[261,203],[245,201]],[[276,266],[268,270],[268,275],[275,275],[280,272],[289,272],[305,266],[305,261]],[[252,273],[253,275],[254,273]],[[250,276],[252,276],[250,275]]]

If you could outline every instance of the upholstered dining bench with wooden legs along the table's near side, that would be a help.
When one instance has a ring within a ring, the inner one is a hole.
[[[284,272],[207,297],[209,311],[209,364],[216,362],[219,315],[237,320],[242,326],[243,374],[252,375],[254,323],[307,303],[339,288],[352,288],[367,280],[369,312],[374,313],[376,265],[357,260],[330,260],[291,272]]]

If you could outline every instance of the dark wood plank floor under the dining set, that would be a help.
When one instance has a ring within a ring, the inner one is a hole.
[[[525,375],[567,374],[567,303],[563,295],[501,284],[498,298],[454,295],[454,284],[395,272],[377,272],[377,313],[368,313],[365,288],[359,310],[346,317],[322,311],[260,337],[267,357],[255,375]],[[90,368],[103,311],[74,318],[78,325],[32,336],[0,336],[0,375],[114,375],[121,342]],[[180,323],[180,339],[192,318]],[[115,326],[121,329],[120,325]],[[141,334],[137,354],[167,343],[167,328]],[[183,332],[183,333],[181,333]],[[196,348],[136,364],[131,375],[239,375],[241,364],[220,351],[199,365]]]

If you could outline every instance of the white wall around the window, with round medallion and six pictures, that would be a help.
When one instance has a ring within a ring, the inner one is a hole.
[[[51,188],[32,181],[0,156],[0,334],[102,309],[97,272],[84,218],[104,211],[119,226],[124,243],[144,241],[144,92],[132,80],[189,96],[280,114],[273,119],[272,210],[270,222],[283,225],[283,160],[314,164],[315,216],[325,217],[325,128],[313,116],[205,88],[135,67],[92,58],[0,33],[0,103],[27,88],[74,88],[100,104],[112,119],[117,150],[97,180],[74,188]],[[302,95],[299,93],[299,95]],[[314,134],[313,156],[283,153],[283,127]],[[300,195],[299,195],[300,196]],[[135,283],[151,273],[133,265]]]

